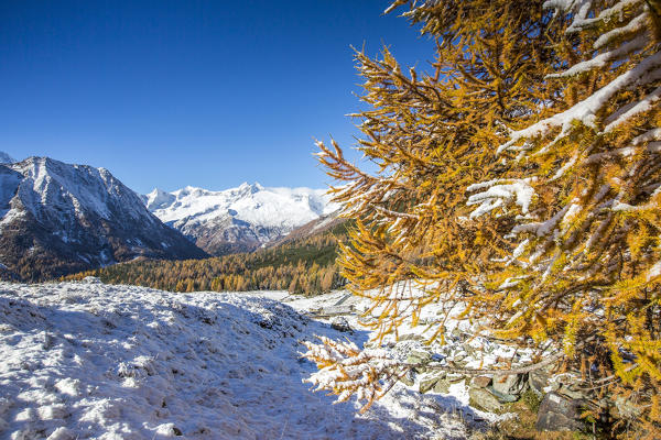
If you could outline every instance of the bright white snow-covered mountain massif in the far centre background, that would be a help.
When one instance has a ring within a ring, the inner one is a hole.
[[[252,251],[278,240],[336,210],[328,199],[324,189],[264,188],[260,184],[224,191],[154,189],[143,196],[158,218],[215,255]]]

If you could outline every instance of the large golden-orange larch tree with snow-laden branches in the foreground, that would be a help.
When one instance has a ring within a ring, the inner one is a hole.
[[[661,432],[661,3],[658,0],[397,1],[437,42],[433,75],[357,53],[359,150],[321,162],[360,219],[343,246],[349,288],[378,338],[431,302],[537,365],[585,373]],[[430,341],[443,339],[443,320]],[[549,351],[549,342],[552,343]],[[308,343],[319,389],[367,405],[405,372],[378,350]],[[624,417],[624,416],[622,416]]]

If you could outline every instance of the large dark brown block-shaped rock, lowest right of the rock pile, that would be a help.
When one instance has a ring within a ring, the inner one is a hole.
[[[574,400],[556,393],[544,396],[538,411],[538,431],[578,431],[584,424],[579,420],[583,400]]]

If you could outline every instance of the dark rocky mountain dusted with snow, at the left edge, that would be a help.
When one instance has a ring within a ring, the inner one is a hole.
[[[0,165],[0,264],[40,279],[139,256],[203,257],[105,168],[47,157]]]

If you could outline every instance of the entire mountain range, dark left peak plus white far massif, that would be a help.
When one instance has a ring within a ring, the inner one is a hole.
[[[321,189],[259,184],[139,196],[105,168],[0,152],[0,279],[251,252],[315,232],[336,209]]]

